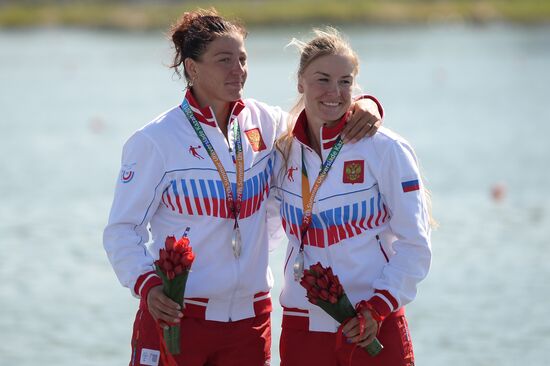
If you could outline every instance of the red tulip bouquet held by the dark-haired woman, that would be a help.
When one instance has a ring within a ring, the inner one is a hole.
[[[187,238],[188,231],[189,228],[177,241],[173,236],[167,237],[165,248],[160,250],[159,259],[155,261],[157,274],[162,278],[164,294],[181,306],[183,306],[187,276],[195,259]],[[164,340],[171,354],[180,353],[179,324],[169,325],[164,329]]]

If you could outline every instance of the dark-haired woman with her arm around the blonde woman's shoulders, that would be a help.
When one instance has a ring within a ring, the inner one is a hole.
[[[141,299],[131,364],[158,363],[157,324],[165,323],[180,324],[180,365],[268,364],[273,279],[266,198],[286,114],[241,99],[242,26],[201,10],[185,13],[171,36],[172,67],[187,80],[185,97],[125,143],[104,232],[117,277]],[[377,118],[357,112],[354,120],[363,118],[350,123],[351,132],[375,131]],[[195,261],[180,308],[163,294],[153,262],[165,238],[187,227]]]

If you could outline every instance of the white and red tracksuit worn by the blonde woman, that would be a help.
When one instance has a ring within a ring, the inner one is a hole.
[[[342,120],[321,128],[321,160],[309,147],[302,112],[288,163],[280,154],[276,158],[272,195],[280,201],[289,238],[280,296],[283,365],[347,364],[352,349],[346,345],[343,353],[334,352],[339,324],[308,302],[292,268],[300,247],[302,147],[311,188],[343,125]],[[305,237],[305,268],[316,262],[332,267],[353,305],[368,300],[386,317],[378,336],[386,349],[369,358],[369,365],[413,362],[403,306],[415,298],[417,284],[430,267],[429,214],[423,190],[414,151],[402,137],[382,127],[372,138],[342,147],[315,197],[313,221]],[[400,351],[392,350],[393,344]],[[390,353],[401,355],[396,361]],[[364,356],[365,352],[357,351],[353,360],[361,364],[366,362]]]

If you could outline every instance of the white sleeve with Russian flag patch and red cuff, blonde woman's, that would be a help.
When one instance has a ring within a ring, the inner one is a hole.
[[[393,256],[373,283],[367,302],[383,318],[411,302],[431,264],[430,222],[414,151],[395,142],[383,155],[378,184],[391,213]]]

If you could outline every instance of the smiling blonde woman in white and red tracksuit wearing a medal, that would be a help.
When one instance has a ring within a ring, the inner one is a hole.
[[[273,190],[289,239],[281,365],[413,365],[404,306],[431,261],[430,215],[415,153],[383,127],[370,139],[343,144],[357,55],[334,29],[294,43],[301,51],[301,99],[277,143]],[[350,320],[339,349],[339,324],[308,302],[299,283],[303,268],[317,262],[332,267],[366,322],[361,332],[358,318]],[[375,337],[384,345],[380,354],[352,353]]]

